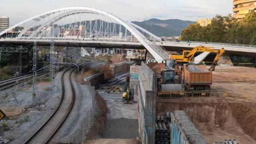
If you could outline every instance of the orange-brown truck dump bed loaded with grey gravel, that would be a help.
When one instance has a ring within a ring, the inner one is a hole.
[[[212,71],[204,64],[184,64],[184,78],[189,85],[211,85]]]

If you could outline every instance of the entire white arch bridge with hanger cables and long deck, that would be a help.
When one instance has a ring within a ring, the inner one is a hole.
[[[54,40],[56,46],[146,48],[158,62],[169,57],[166,49],[182,51],[199,45],[225,48],[226,54],[256,58],[256,46],[161,41],[158,36],[114,14],[85,6],[60,8],[28,18],[0,32],[0,38],[0,44],[15,46],[27,46],[32,42],[50,46],[50,41]],[[0,47],[0,51],[6,49]],[[18,48],[15,50],[24,51]]]

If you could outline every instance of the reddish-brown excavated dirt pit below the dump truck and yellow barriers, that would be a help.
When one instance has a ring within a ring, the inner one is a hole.
[[[235,138],[239,144],[256,144],[256,105],[224,100],[158,100],[157,114],[184,110],[205,140]]]

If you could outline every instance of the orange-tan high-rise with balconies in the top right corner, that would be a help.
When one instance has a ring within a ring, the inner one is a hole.
[[[256,12],[256,0],[233,0],[234,18],[240,20],[250,11]]]

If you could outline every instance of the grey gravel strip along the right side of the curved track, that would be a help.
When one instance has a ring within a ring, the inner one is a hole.
[[[92,102],[96,102],[88,85],[78,84],[76,81],[76,73],[72,74],[73,84],[76,92],[74,106],[65,120],[64,124],[52,138],[50,143],[80,143],[83,137],[90,129],[90,116],[97,115],[99,110],[95,108],[93,114],[90,111]],[[95,91],[94,91],[95,92]]]

